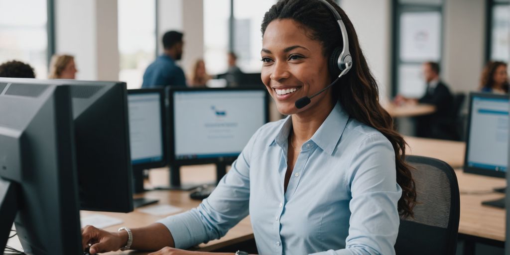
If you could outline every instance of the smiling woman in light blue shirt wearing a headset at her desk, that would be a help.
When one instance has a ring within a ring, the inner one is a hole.
[[[277,2],[262,22],[262,81],[289,117],[260,127],[197,208],[116,233],[86,226],[84,248],[203,255],[179,249],[218,239],[249,214],[260,254],[395,254],[400,219],[416,204],[404,139],[379,106],[352,22],[328,3],[350,43],[353,65],[345,75],[335,80],[340,68],[328,68],[343,45],[326,4]],[[296,108],[296,100],[321,89]]]

